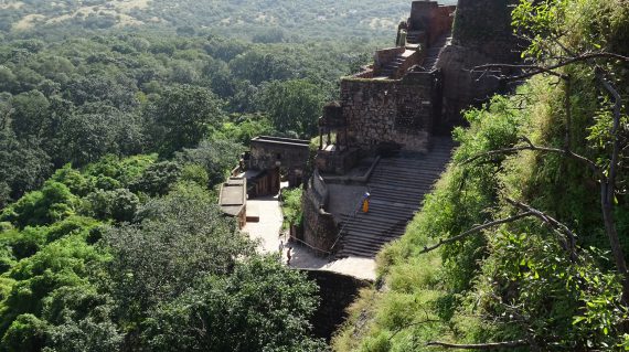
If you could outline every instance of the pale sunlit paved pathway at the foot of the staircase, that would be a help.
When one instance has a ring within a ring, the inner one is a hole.
[[[281,234],[281,209],[276,196],[265,196],[247,201],[247,212],[259,215],[258,223],[247,223],[243,232],[259,241],[260,253],[277,253],[280,241],[286,244],[287,235]],[[329,262],[328,258],[316,256],[309,248],[296,243],[292,247],[290,267],[300,269],[330,270],[350,275],[360,279],[375,280],[375,260],[373,258],[347,257]],[[282,262],[286,263],[286,248],[282,252]]]

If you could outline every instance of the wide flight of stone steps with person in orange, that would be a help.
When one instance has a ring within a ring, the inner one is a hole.
[[[374,257],[383,245],[402,236],[445,170],[452,147],[451,139],[436,137],[426,154],[383,158],[366,184],[371,193],[369,213],[342,215],[337,257]]]

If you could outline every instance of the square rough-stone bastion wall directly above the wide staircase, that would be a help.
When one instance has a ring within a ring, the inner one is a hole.
[[[438,75],[407,73],[403,79],[343,79],[341,105],[352,146],[375,151],[381,143],[427,151],[439,95]]]

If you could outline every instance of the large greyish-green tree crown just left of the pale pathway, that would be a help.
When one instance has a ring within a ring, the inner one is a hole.
[[[152,200],[137,217],[137,224],[105,234],[115,298],[131,317],[205,275],[230,273],[253,249],[199,186]]]

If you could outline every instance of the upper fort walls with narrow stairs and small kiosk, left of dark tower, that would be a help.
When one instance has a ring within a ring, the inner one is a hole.
[[[327,106],[319,121],[321,171],[348,171],[358,160],[356,150],[428,150],[441,111],[441,72],[435,63],[448,43],[455,10],[414,1],[411,17],[399,24],[397,45],[376,51],[371,66],[341,81],[340,103]]]

